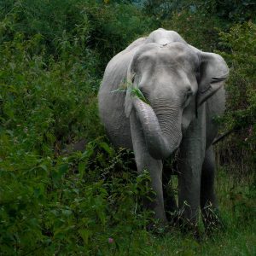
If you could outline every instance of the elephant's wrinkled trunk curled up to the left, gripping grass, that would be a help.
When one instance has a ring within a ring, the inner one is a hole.
[[[149,154],[155,159],[168,157],[178,147],[182,137],[177,111],[174,114],[173,110],[166,109],[166,113],[163,113],[160,108],[156,108],[158,113],[155,113],[153,108],[139,98],[134,98],[133,106],[143,125]]]

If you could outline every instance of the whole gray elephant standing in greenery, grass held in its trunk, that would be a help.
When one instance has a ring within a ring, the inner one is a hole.
[[[150,173],[156,193],[150,207],[163,222],[162,160],[177,148],[183,218],[196,224],[200,206],[205,219],[206,206],[217,207],[212,142],[218,126],[213,118],[224,112],[228,73],[220,55],[202,52],[177,32],[161,28],[108,63],[98,95],[102,123],[114,146],[134,151],[138,172]],[[138,87],[149,104],[131,90],[119,91],[124,81],[130,89]]]

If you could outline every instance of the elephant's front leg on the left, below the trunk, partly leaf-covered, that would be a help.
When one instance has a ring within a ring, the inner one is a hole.
[[[166,223],[166,213],[164,209],[163,188],[162,188],[162,160],[155,160],[149,153],[145,143],[143,128],[137,119],[136,113],[132,111],[131,121],[131,137],[133,151],[137,163],[138,172],[147,170],[151,177],[151,185],[154,195],[149,195],[151,200],[143,200],[143,204],[150,210],[154,211],[154,217]]]

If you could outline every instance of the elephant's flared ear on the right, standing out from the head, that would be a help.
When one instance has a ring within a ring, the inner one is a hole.
[[[216,93],[228,79],[229,67],[217,54],[200,52],[200,74],[198,78],[197,106]]]

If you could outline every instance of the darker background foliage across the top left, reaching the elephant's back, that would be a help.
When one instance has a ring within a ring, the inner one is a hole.
[[[55,58],[74,46],[80,55],[93,49],[100,55],[101,72],[113,55],[155,28],[135,6],[112,1],[8,0],[0,8],[0,43],[19,32],[25,39],[40,34],[46,55]]]

